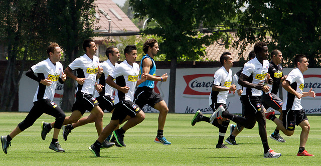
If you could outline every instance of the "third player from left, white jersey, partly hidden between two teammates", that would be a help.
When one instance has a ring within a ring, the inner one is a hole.
[[[103,68],[103,74],[99,78],[99,82],[95,85],[96,90],[94,91],[94,97],[99,103],[99,107],[102,110],[106,110],[108,112],[112,112],[115,105],[114,105],[114,98],[112,97],[113,89],[109,85],[106,84],[106,78],[111,73],[114,68],[118,65],[116,62],[119,60],[119,51],[116,47],[108,47],[106,50],[106,56],[108,60],[99,63],[99,67]],[[67,140],[68,134],[71,132],[72,129],[75,127],[79,127],[88,123],[95,122],[95,116],[90,114],[89,116],[82,117],[78,120],[77,123],[67,124],[62,127],[63,129],[63,137],[64,140]],[[101,144],[101,148],[109,148],[112,147],[115,143],[109,142],[109,139],[105,140]]]

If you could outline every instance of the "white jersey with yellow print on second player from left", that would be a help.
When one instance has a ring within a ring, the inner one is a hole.
[[[83,93],[93,94],[95,90],[96,76],[98,73],[98,57],[94,56],[90,59],[86,54],[76,58],[69,64],[71,70],[77,69],[77,77],[85,78],[85,82],[82,85],[78,85],[78,90]]]

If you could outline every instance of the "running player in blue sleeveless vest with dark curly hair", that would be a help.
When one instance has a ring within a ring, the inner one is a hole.
[[[159,51],[158,43],[155,39],[148,39],[143,44],[143,51],[146,55],[142,57],[140,62],[140,75],[142,73],[148,73],[147,81],[141,83],[135,91],[134,103],[140,108],[148,104],[159,111],[158,130],[154,142],[162,143],[163,145],[170,145],[172,143],[163,135],[166,116],[169,112],[169,108],[167,107],[167,104],[163,100],[162,96],[158,93],[155,93],[153,89],[155,81],[165,82],[169,76],[167,73],[163,74],[161,77],[155,75],[156,65],[153,58]]]

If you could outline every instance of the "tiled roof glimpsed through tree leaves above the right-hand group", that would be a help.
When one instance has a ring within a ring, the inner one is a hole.
[[[234,34],[231,34],[235,37]],[[238,47],[237,49],[232,47],[232,43],[234,40],[232,40],[231,44],[229,45],[229,48],[226,49],[225,45],[220,45],[218,42],[215,42],[213,45],[210,45],[206,48],[206,56],[203,58],[205,61],[220,61],[220,57],[224,52],[230,52],[233,57],[233,61],[239,61],[240,56],[239,53],[241,51],[241,48]],[[245,51],[243,52],[243,57],[245,60],[247,60],[247,57],[251,51],[253,51],[254,45],[247,45],[245,48]]]

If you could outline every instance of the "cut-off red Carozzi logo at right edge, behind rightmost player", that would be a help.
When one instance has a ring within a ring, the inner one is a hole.
[[[308,92],[311,88],[315,96],[321,96],[321,75],[305,74],[303,92]]]

